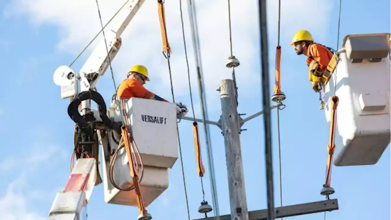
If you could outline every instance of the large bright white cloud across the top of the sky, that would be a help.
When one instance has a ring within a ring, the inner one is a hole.
[[[125,0],[99,1],[104,23],[120,8]],[[188,22],[187,1],[183,0],[185,34],[192,74],[192,89],[194,97],[197,94],[193,50]],[[231,21],[233,31],[233,53],[241,61],[237,68],[238,85],[253,87],[259,91],[258,70],[258,1],[231,0]],[[282,0],[281,44],[287,45],[292,34],[298,29],[308,29],[321,40],[325,27],[328,27],[328,11],[332,8],[326,0]],[[269,40],[271,51],[276,44],[278,1],[268,0]],[[201,56],[203,72],[208,94],[208,103],[218,102],[219,80],[231,78],[231,71],[225,67],[230,55],[228,5],[226,0],[196,1],[198,28],[201,41]],[[321,8],[325,16],[308,19],[308,5]],[[187,68],[184,58],[179,1],[165,3],[167,33],[173,50],[171,69],[176,96],[188,96]],[[60,41],[57,49],[77,55],[100,29],[99,17],[95,0],[13,0],[6,8],[8,16],[27,14],[35,25],[50,24],[58,27]],[[118,19],[124,14],[118,15]],[[115,20],[113,20],[115,22]],[[162,42],[156,0],[147,0],[136,14],[123,36],[121,52],[114,60],[114,72],[117,81],[122,80],[127,69],[136,63],[142,63],[149,68],[151,88],[158,94],[170,97],[170,83],[165,58],[161,53]],[[93,47],[91,47],[93,49]],[[91,51],[91,50],[90,50]],[[273,57],[273,55],[271,56]],[[68,62],[68,61],[66,61]],[[109,75],[109,70],[106,72]],[[102,78],[110,80],[109,78]],[[98,84],[99,86],[99,84]],[[251,93],[250,90],[240,90],[241,95]],[[182,98],[183,99],[183,98]],[[196,99],[196,102],[197,99]],[[190,103],[189,103],[190,104]],[[209,105],[213,108],[213,106]],[[220,105],[214,105],[219,109]],[[197,107],[197,106],[195,106]]]

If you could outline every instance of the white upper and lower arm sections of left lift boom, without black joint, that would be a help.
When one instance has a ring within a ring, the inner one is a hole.
[[[111,31],[105,32],[107,40],[100,41],[79,72],[61,66],[54,72],[54,83],[61,86],[61,98],[96,90],[100,76],[103,76],[121,46],[121,35],[145,0],[127,0],[124,8],[129,10],[122,22],[115,23]],[[90,109],[90,100],[82,101],[82,109]],[[88,111],[82,111],[86,114]],[[96,163],[93,158],[78,159],[68,180],[66,189],[57,193],[49,213],[49,220],[81,220],[81,210],[86,206],[95,186]]]

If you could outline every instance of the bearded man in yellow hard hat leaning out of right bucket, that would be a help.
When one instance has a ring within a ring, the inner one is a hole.
[[[333,50],[319,43],[315,43],[310,32],[301,30],[293,35],[291,45],[294,45],[296,54],[307,56],[308,77],[312,81],[312,89],[319,92],[324,85],[323,72],[333,56]]]

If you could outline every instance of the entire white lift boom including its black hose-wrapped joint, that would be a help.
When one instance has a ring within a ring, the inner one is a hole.
[[[127,15],[125,17],[125,14],[118,13],[117,17],[124,16],[123,20],[117,20],[116,23],[112,23],[111,30],[105,31],[106,40],[102,39],[100,43],[97,45],[97,47],[93,50],[90,57],[87,59],[87,61],[84,63],[83,67],[79,72],[76,72],[68,66],[61,66],[57,68],[57,70],[54,72],[54,82],[56,85],[59,85],[61,87],[61,98],[71,98],[72,99],[75,96],[78,96],[79,94],[86,92],[86,91],[95,91],[96,92],[96,85],[100,78],[100,76],[103,76],[106,72],[107,68],[109,67],[111,61],[115,58],[115,56],[118,53],[118,50],[120,49],[122,40],[121,35],[125,31],[127,25],[131,22],[137,11],[140,9],[142,4],[145,2],[145,0],[127,0],[127,2],[122,6],[121,9],[125,8],[127,10]],[[125,10],[124,10],[125,11]],[[107,43],[107,47],[106,47]],[[100,95],[99,95],[100,96]],[[99,97],[98,97],[99,99]],[[94,100],[95,101],[95,100]],[[98,105],[104,105],[103,103],[98,103]],[[109,119],[106,116],[106,108],[104,108],[104,114],[103,112],[98,112],[97,110],[91,110],[91,100],[85,99],[81,101],[81,108],[82,108],[82,114],[78,114],[78,119],[80,120],[80,123],[86,124],[86,115],[91,114],[93,117],[95,117],[96,121],[102,121],[103,126],[100,126],[99,123],[91,123],[94,126],[93,130],[95,130],[95,133],[90,135],[91,140],[90,145],[95,146],[92,151],[95,151],[93,153],[93,158],[86,158],[83,160],[77,160],[74,171],[77,169],[82,169],[83,173],[75,174],[72,171],[72,174],[70,175],[70,179],[68,180],[66,189],[64,191],[60,191],[57,193],[56,198],[52,204],[52,209],[49,213],[49,219],[50,220],[80,220],[82,219],[81,211],[84,206],[86,206],[86,203],[88,202],[88,199],[90,197],[90,193],[92,193],[92,188],[94,184],[89,184],[88,187],[71,187],[69,188],[70,184],[72,185],[72,182],[74,184],[78,184],[75,178],[84,178],[85,176],[88,176],[91,181],[91,178],[96,178],[96,180],[93,180],[95,182],[95,186],[100,184],[102,182],[102,179],[100,177],[100,166],[99,166],[99,144],[98,143],[98,136],[99,132],[96,132],[98,129],[102,130],[110,130],[113,129],[113,127],[109,127],[107,123],[105,123],[105,119]],[[68,114],[70,114],[70,108],[68,107]],[[70,115],[71,116],[71,115]],[[106,116],[106,117],[105,117]],[[74,121],[76,120],[75,118]],[[98,128],[99,127],[99,128]],[[82,131],[83,132],[83,131]],[[91,144],[93,142],[93,144]],[[103,146],[103,148],[107,148],[108,146]],[[93,163],[93,165],[91,164]],[[98,164],[98,165],[97,165]],[[87,167],[91,169],[86,169]],[[96,174],[96,175],[95,175]],[[76,178],[76,179],[77,179]],[[76,182],[75,182],[76,181]],[[81,181],[81,180],[80,180]],[[83,181],[81,181],[79,184],[82,184]]]

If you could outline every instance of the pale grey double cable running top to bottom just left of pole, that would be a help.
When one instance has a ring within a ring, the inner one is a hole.
[[[205,142],[206,142],[206,148],[208,150],[208,167],[209,167],[209,177],[210,177],[210,184],[211,184],[211,191],[212,191],[212,199],[213,199],[213,206],[214,206],[214,215],[219,216],[219,205],[217,201],[217,192],[216,192],[216,185],[215,185],[215,175],[214,175],[214,165],[213,165],[213,155],[212,155],[212,148],[210,144],[210,135],[208,131],[208,126],[206,124],[207,117],[207,104],[206,104],[206,95],[203,90],[203,79],[202,79],[202,63],[201,63],[201,54],[200,54],[200,45],[199,45],[199,39],[198,39],[198,27],[197,27],[197,16],[195,13],[195,2],[192,0],[188,0],[188,11],[189,11],[189,18],[190,18],[190,30],[192,32],[192,43],[194,47],[194,59],[195,59],[195,65],[197,68],[197,78],[198,78],[198,91],[199,91],[199,98],[201,101],[201,113],[202,113],[202,119],[203,119],[203,125],[204,125],[204,135],[205,135]]]

